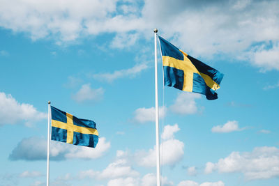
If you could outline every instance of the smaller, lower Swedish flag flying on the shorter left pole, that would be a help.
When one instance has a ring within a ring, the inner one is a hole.
[[[52,140],[77,146],[96,147],[98,131],[95,122],[77,118],[55,107],[51,109]]]

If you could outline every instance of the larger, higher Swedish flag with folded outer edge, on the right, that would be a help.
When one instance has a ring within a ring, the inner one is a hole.
[[[209,65],[189,56],[172,43],[159,36],[164,67],[165,86],[181,91],[206,95],[207,100],[218,98],[215,92],[220,88],[223,74]]]

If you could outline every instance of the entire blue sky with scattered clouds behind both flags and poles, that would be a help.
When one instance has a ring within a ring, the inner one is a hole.
[[[278,1],[8,1],[0,6],[0,185],[45,185],[47,101],[97,123],[51,141],[50,185],[156,185],[153,29],[223,72],[218,100],[163,87],[163,185],[279,185]],[[160,54],[160,52],[158,53]]]

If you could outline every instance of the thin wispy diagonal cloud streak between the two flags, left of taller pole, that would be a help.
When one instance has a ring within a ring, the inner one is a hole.
[[[113,73],[96,74],[93,75],[93,78],[100,81],[113,82],[115,79],[119,79],[121,77],[135,77],[135,75],[139,74],[146,68],[148,68],[148,65],[146,65],[146,63],[140,63],[133,66],[133,68],[128,68],[125,70],[116,70]]]

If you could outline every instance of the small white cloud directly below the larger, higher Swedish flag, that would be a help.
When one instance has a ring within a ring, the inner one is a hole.
[[[197,93],[181,92],[170,109],[176,114],[195,114],[198,111],[195,99],[201,98]]]

